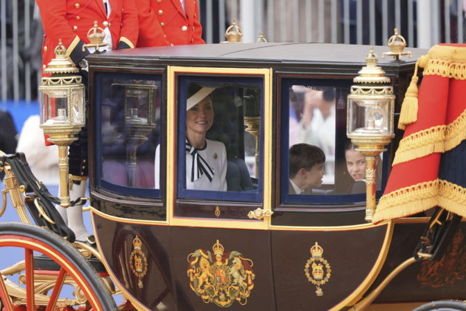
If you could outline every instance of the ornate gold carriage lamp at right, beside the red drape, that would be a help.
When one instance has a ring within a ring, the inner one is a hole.
[[[395,137],[393,109],[395,95],[389,85],[390,78],[377,66],[377,55],[371,48],[365,57],[366,66],[354,78],[347,99],[347,137],[366,158],[366,210],[365,220],[372,221],[375,210],[376,159],[384,146]]]

